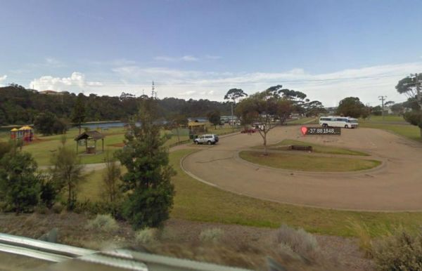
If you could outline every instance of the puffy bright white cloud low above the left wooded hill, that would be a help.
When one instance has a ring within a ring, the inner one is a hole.
[[[46,89],[53,91],[75,91],[83,90],[87,86],[98,87],[103,86],[98,81],[87,81],[85,75],[81,72],[73,72],[70,77],[51,77],[49,75],[39,77],[30,82],[30,86],[39,91]]]

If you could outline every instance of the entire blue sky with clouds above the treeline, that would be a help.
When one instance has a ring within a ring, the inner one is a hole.
[[[402,102],[422,1],[0,0],[0,86],[223,100],[283,85],[327,107]]]

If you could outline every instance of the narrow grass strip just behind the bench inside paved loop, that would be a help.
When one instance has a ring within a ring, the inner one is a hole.
[[[356,150],[348,150],[343,149],[340,147],[330,147],[330,146],[323,146],[323,145],[317,145],[314,143],[307,143],[299,140],[293,140],[293,139],[285,139],[281,141],[280,143],[274,144],[274,145],[268,145],[268,150],[288,150],[286,146],[288,145],[301,145],[301,146],[312,146],[313,152],[319,152],[319,153],[326,153],[326,154],[348,154],[348,155],[362,155],[362,156],[369,156],[369,154],[365,152],[358,152]],[[262,146],[256,146],[253,147],[254,149],[263,149]]]

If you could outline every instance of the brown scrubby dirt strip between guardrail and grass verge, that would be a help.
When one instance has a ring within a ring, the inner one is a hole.
[[[371,260],[363,257],[354,239],[316,236],[321,258],[312,263],[281,257],[274,246],[274,232],[267,228],[218,223],[200,223],[170,219],[160,233],[158,242],[139,246],[135,233],[127,223],[119,223],[112,233],[87,230],[90,216],[63,212],[60,214],[0,214],[0,231],[37,239],[53,227],[58,228],[58,241],[89,249],[132,247],[167,256],[179,256],[238,267],[266,270],[267,256],[288,267],[288,270],[371,270]],[[224,237],[217,245],[201,244],[200,232],[219,228]]]

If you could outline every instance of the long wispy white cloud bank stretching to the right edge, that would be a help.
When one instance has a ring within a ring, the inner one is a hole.
[[[119,67],[113,71],[128,81],[154,80],[158,84],[160,97],[191,95],[189,98],[222,100],[229,88],[243,88],[248,93],[255,93],[281,84],[303,91],[310,99],[321,100],[326,106],[338,105],[347,96],[357,96],[363,103],[377,105],[378,95],[388,95],[388,100],[406,100],[404,95],[395,91],[395,85],[411,72],[422,71],[422,62],[377,65],[323,74],[311,74],[301,68],[286,72],[238,74],[138,66]]]

